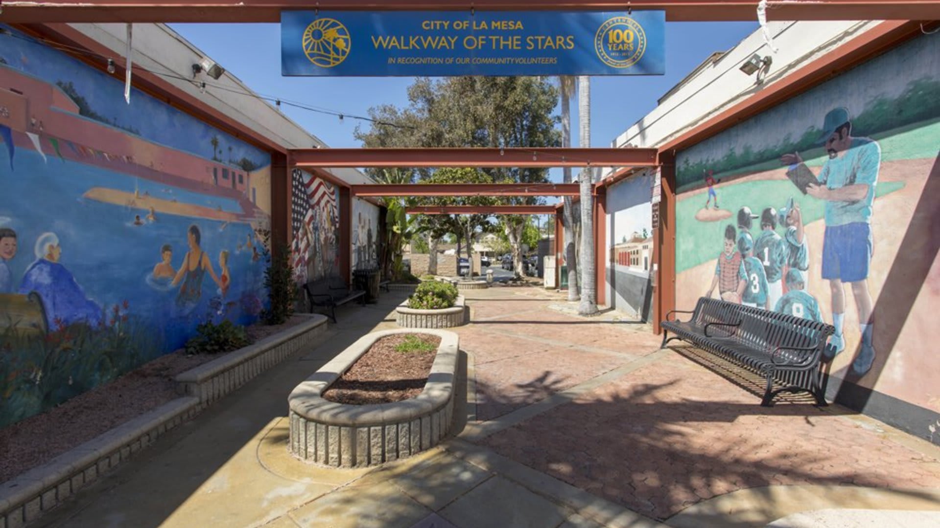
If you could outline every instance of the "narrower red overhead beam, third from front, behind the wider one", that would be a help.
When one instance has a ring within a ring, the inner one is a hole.
[[[352,185],[353,196],[577,196],[577,183],[405,183]]]

